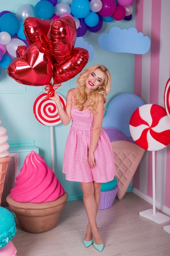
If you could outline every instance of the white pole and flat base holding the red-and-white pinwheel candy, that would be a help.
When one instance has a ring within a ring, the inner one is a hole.
[[[158,224],[169,221],[170,217],[159,213],[155,210],[155,151],[152,151],[152,194],[153,194],[153,209],[139,212],[139,215],[152,220]],[[167,226],[168,227],[168,226]],[[170,226],[169,226],[170,229]]]

